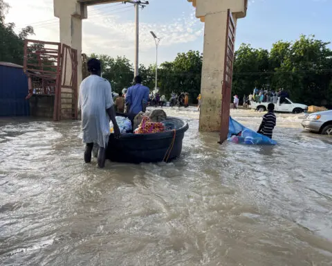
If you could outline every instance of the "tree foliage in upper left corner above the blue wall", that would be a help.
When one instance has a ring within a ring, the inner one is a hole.
[[[24,39],[34,34],[33,27],[22,28],[20,33],[15,33],[15,24],[5,24],[4,19],[10,6],[0,0],[0,61],[23,64]]]

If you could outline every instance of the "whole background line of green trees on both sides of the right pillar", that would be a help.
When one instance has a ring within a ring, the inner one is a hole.
[[[241,44],[235,53],[232,93],[240,98],[259,89],[284,88],[292,100],[307,105],[332,105],[332,51],[329,43],[301,36],[295,42],[279,41],[270,51]],[[126,57],[91,55],[102,60],[104,78],[111,81],[113,89],[129,87],[133,79],[133,66]],[[172,62],[158,68],[160,94],[170,97],[185,91],[191,102],[201,91],[203,55],[199,51],[178,53]],[[155,66],[140,65],[143,84],[155,87]]]

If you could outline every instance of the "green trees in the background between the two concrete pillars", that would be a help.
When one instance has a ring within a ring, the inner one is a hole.
[[[110,57],[109,55],[91,54],[102,62],[102,76],[111,82],[113,91],[120,92],[124,87],[132,85],[133,65],[126,57]],[[164,62],[158,68],[158,87],[160,94],[169,98],[172,91],[180,94],[182,91],[190,94],[196,100],[201,91],[201,71],[203,57],[199,51],[178,53],[173,62]],[[139,68],[143,84],[152,91],[155,85],[156,66],[143,64]]]

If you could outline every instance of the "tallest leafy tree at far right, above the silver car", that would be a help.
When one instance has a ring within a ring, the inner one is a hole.
[[[271,83],[284,87],[293,100],[307,105],[326,105],[332,102],[332,51],[329,42],[301,35],[293,43],[278,43],[272,55],[282,55]],[[284,48],[280,48],[284,47]],[[275,47],[274,47],[275,48]],[[277,51],[278,51],[277,50]],[[272,57],[276,62],[275,57]]]

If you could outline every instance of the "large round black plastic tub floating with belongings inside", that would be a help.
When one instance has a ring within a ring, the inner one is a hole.
[[[121,134],[120,139],[114,139],[111,134],[107,159],[122,163],[156,163],[176,159],[181,154],[183,137],[189,126],[179,118],[168,117],[167,121],[174,124],[175,130],[154,134]]]

